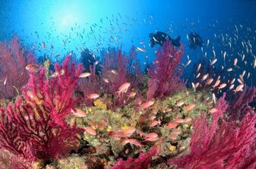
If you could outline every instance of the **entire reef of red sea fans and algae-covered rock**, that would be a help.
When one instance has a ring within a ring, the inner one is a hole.
[[[185,86],[182,47],[164,43],[147,74],[135,50],[111,49],[90,72],[71,54],[54,72],[17,62],[29,78],[0,102],[2,168],[256,167],[254,88],[216,100]]]

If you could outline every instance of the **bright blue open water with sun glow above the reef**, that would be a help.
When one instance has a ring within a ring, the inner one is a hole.
[[[241,44],[232,44],[227,49],[227,42],[220,37],[234,37],[235,26],[239,29],[239,38],[251,40],[255,46],[256,1],[8,1],[2,0],[0,5],[0,40],[10,39],[17,33],[24,45],[32,50],[37,57],[46,55],[52,61],[61,60],[69,52],[79,57],[81,50],[90,49],[96,56],[100,50],[108,47],[121,47],[126,52],[131,45],[141,46],[144,42],[147,53],[139,52],[141,63],[148,55],[148,61],[153,61],[154,51],[150,49],[149,33],[156,30],[168,33],[175,38],[182,36],[185,45],[183,63],[191,58],[191,64],[185,68],[183,76],[191,77],[193,64],[204,57],[213,57],[212,47],[216,57],[221,57],[222,51],[235,57],[242,50]],[[246,29],[250,27],[251,33]],[[201,49],[188,49],[187,35],[195,31],[204,39],[210,39],[210,45]],[[45,42],[46,49],[42,49]],[[51,47],[52,45],[52,47]],[[230,52],[229,52],[230,51]],[[252,53],[255,53],[252,48]],[[56,55],[61,57],[55,58]],[[252,61],[253,55],[247,57]],[[220,66],[220,65],[219,65]]]

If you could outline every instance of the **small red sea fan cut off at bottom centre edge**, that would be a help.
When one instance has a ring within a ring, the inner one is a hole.
[[[150,168],[152,157],[156,155],[156,146],[153,146],[149,152],[141,152],[138,158],[128,158],[126,161],[123,161],[122,158],[115,163],[110,169],[144,169]]]

